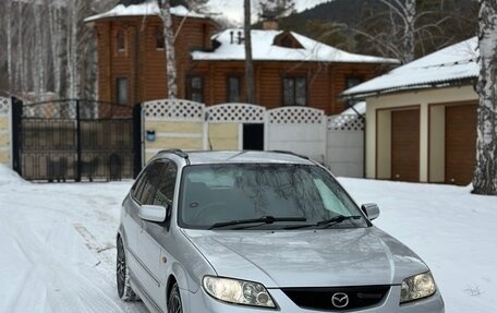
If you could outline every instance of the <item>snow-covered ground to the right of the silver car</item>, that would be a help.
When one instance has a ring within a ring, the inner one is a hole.
[[[359,203],[377,203],[374,224],[431,267],[448,313],[497,308],[497,196],[471,186],[340,179]]]

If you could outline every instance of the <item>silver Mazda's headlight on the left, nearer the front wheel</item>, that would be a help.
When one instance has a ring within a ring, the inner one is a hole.
[[[257,282],[205,276],[202,285],[208,294],[225,302],[276,308],[269,292]]]

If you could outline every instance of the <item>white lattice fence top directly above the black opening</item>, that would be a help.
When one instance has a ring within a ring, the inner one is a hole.
[[[250,104],[225,104],[207,108],[209,122],[264,123],[266,109]]]

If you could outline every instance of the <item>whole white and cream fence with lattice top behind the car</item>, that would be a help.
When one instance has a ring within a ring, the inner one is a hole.
[[[327,117],[307,107],[266,108],[250,104],[206,107],[187,100],[144,105],[146,159],[163,148],[243,149],[244,125],[264,125],[264,149],[291,151],[329,167],[335,174],[363,177],[364,121],[359,116]]]

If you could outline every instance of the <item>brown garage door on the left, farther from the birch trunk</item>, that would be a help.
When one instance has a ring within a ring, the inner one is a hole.
[[[391,179],[420,181],[420,109],[391,112]]]

